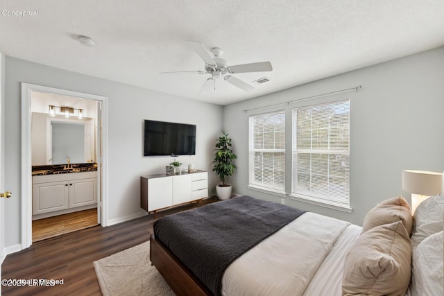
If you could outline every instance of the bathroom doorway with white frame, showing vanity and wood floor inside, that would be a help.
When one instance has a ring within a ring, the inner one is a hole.
[[[105,225],[107,98],[22,83],[22,103],[22,249]]]

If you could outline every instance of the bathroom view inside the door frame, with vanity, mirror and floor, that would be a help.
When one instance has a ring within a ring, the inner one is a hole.
[[[97,171],[99,104],[31,92],[33,243],[100,223],[97,174],[86,173]]]

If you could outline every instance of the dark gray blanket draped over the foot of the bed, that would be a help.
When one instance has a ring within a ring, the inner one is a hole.
[[[154,234],[214,295],[220,295],[223,273],[234,260],[303,213],[240,196],[160,218]]]

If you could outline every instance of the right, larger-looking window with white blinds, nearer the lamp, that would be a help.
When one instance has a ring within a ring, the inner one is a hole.
[[[293,109],[291,195],[350,207],[350,101]]]

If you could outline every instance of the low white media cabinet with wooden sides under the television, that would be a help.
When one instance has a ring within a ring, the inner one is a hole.
[[[154,212],[179,204],[200,202],[208,197],[208,173],[182,173],[181,175],[146,175],[140,177],[140,207]]]

